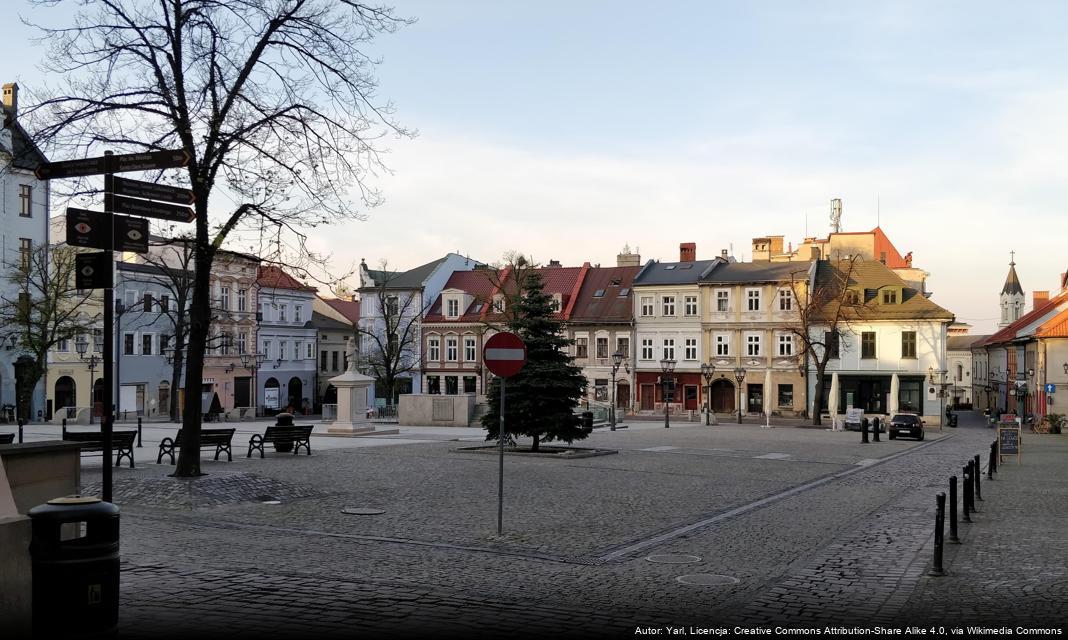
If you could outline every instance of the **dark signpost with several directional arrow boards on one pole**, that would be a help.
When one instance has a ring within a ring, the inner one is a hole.
[[[100,434],[104,439],[104,477],[101,494],[105,502],[111,502],[112,494],[112,435],[114,432],[114,379],[112,368],[115,359],[115,290],[114,254],[119,251],[144,252],[148,250],[148,221],[141,218],[116,216],[117,199],[122,199],[122,213],[139,214],[164,220],[191,222],[194,219],[188,206],[158,204],[136,198],[178,200],[183,204],[192,203],[192,193],[166,185],[153,185],[138,181],[114,177],[114,173],[127,171],[151,171],[173,169],[189,163],[189,153],[185,150],[166,150],[140,154],[114,155],[110,151],[96,158],[82,158],[63,162],[45,162],[33,171],[37,179],[58,179],[104,175],[104,212],[79,208],[67,209],[67,243],[75,247],[104,249],[97,253],[80,253],[76,257],[75,281],[78,288],[104,290],[104,416]],[[115,196],[116,181],[122,193]],[[147,185],[147,186],[146,186]],[[140,190],[139,190],[140,189]],[[131,196],[126,197],[126,196]],[[157,215],[154,215],[157,214]]]

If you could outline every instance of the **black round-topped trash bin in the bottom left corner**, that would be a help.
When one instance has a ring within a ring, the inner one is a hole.
[[[119,508],[90,496],[34,506],[33,636],[99,636],[119,623]]]

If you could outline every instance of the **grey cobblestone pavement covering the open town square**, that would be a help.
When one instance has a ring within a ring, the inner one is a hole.
[[[197,481],[163,481],[167,465],[116,470],[116,496],[128,498],[121,631],[624,637],[638,627],[666,635],[668,625],[948,626],[987,622],[973,621],[974,610],[1024,594],[1049,599],[1012,620],[1047,613],[1063,624],[1065,576],[1050,565],[1064,566],[1064,546],[1045,538],[1064,537],[1066,472],[1055,464],[1064,437],[1042,438],[1049,457],[1024,458],[1034,471],[1006,465],[984,486],[945,578],[925,575],[934,494],[968,457],[985,461],[993,439],[967,413],[961,428],[922,443],[752,425],[598,431],[581,446],[619,454],[506,461],[502,536],[497,461],[455,442],[208,461],[210,475]],[[1036,498],[1042,478],[1059,483],[1059,497]],[[193,488],[171,494],[174,482]],[[663,555],[695,561],[651,561]],[[972,579],[989,564],[999,571],[988,581]],[[703,576],[726,578],[687,583]]]

